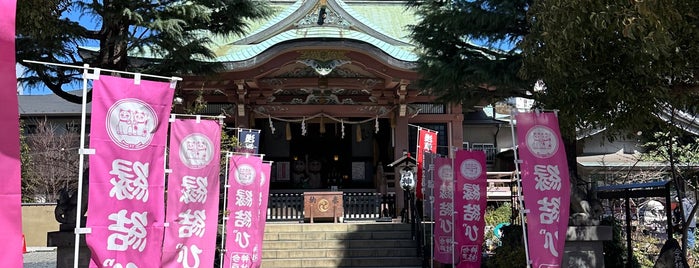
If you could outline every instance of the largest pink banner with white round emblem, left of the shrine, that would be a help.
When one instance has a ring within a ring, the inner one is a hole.
[[[174,84],[172,84],[174,85]],[[93,81],[85,235],[100,267],[160,267],[165,146],[174,88],[111,76]]]

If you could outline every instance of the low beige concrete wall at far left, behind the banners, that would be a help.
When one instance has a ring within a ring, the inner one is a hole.
[[[46,233],[58,231],[56,204],[22,204],[22,233],[28,247],[45,247]]]

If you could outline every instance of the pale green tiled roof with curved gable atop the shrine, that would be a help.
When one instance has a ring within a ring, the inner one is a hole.
[[[333,26],[297,28],[294,23],[305,15],[300,12],[312,11],[308,5],[318,2],[306,1],[273,2],[273,7],[279,12],[268,20],[251,22],[251,31],[245,37],[215,38],[214,43],[217,47],[214,51],[218,56],[216,61],[244,61],[282,42],[318,38],[365,42],[397,60],[417,60],[418,56],[412,51],[407,30],[407,25],[414,24],[417,19],[405,3],[381,0],[349,0],[345,3],[340,0],[328,0],[329,7],[341,9],[335,11],[344,12],[345,16],[350,17],[346,19],[356,22],[355,25],[349,29]],[[257,42],[255,38],[260,41]]]

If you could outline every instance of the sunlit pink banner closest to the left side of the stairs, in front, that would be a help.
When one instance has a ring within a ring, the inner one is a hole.
[[[233,155],[228,184],[228,222],[223,267],[253,267],[259,263],[260,170],[262,158],[250,154]]]

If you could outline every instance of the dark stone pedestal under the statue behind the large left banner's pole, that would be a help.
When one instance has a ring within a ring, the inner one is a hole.
[[[60,231],[48,232],[46,244],[56,247],[56,268],[72,268],[75,259],[75,224],[61,224]],[[80,255],[78,267],[90,266],[90,249],[85,243],[85,235],[80,235]]]

